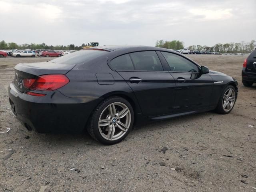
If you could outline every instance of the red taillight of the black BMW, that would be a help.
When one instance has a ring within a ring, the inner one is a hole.
[[[24,87],[31,90],[53,91],[68,84],[69,79],[63,74],[41,75],[36,79],[24,79]]]

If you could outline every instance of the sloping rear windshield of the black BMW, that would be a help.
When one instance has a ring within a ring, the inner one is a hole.
[[[59,58],[50,60],[52,63],[61,63],[61,64],[79,64],[82,62],[88,62],[89,60],[95,59],[97,57],[108,54],[108,51],[101,50],[80,50],[73,52],[71,54],[66,54]]]

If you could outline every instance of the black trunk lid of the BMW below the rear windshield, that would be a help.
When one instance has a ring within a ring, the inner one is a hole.
[[[66,74],[74,66],[76,65],[58,64],[54,62],[20,63],[14,67],[15,76],[13,84],[20,92],[26,92],[28,88],[24,87],[24,78],[37,78],[45,74]]]

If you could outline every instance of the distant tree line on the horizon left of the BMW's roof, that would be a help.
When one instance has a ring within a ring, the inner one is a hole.
[[[88,43],[89,44],[89,43]],[[6,43],[4,40],[2,40],[0,42],[0,50],[7,50],[7,49],[52,49],[52,50],[80,50],[82,49],[84,46],[88,46],[88,44],[82,44],[81,46],[74,46],[74,44],[70,44],[70,45],[56,45],[56,46],[52,46],[52,45],[46,45],[45,43],[42,44],[35,44],[35,43],[31,43],[31,44],[16,44],[14,42],[10,42],[10,43]]]

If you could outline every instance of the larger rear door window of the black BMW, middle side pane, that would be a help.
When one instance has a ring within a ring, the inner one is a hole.
[[[162,64],[155,51],[141,51],[130,53],[135,70],[163,71]]]

